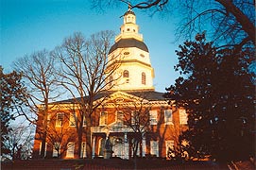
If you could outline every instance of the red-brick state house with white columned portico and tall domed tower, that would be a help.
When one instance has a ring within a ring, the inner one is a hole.
[[[104,156],[106,140],[109,138],[111,156],[130,159],[136,134],[140,135],[138,156],[167,158],[169,148],[173,149],[179,145],[180,131],[187,124],[186,111],[170,105],[162,96],[163,93],[155,91],[154,69],[151,67],[149,51],[143,35],[139,33],[139,26],[136,25],[135,13],[130,9],[124,15],[124,24],[120,31],[111,46],[108,58],[124,54],[125,57],[118,68],[118,72],[122,71],[122,77],[111,90],[98,94],[95,98],[96,102],[101,100],[104,94],[108,95],[94,111],[91,127],[92,158]],[[65,110],[69,105],[76,105],[73,101],[60,101],[58,105],[62,111],[59,109],[48,113],[48,120],[55,126],[55,132],[48,129],[47,135],[56,135],[58,138],[52,139],[59,140],[52,141],[47,138],[45,158],[57,157],[58,154],[62,159],[78,159],[78,155],[80,158],[88,157],[85,138],[82,139],[81,149],[78,151],[74,111]],[[136,117],[135,114],[140,115]],[[40,122],[40,117],[38,121]],[[86,127],[86,122],[83,126]],[[42,154],[42,140],[38,138],[40,128],[42,127],[39,124],[34,142],[34,158]],[[56,144],[59,147],[56,147]]]

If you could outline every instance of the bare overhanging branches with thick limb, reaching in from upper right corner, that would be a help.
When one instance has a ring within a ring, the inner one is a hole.
[[[113,7],[113,4],[150,8],[151,13],[171,13],[180,20],[178,37],[193,39],[197,33],[207,31],[214,42],[223,45],[255,46],[255,1],[252,0],[92,0],[93,8]]]

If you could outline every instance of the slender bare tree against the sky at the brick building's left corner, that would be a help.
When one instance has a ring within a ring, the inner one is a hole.
[[[22,73],[28,92],[27,107],[20,108],[19,115],[25,116],[32,124],[42,124],[39,129],[43,134],[42,150],[45,149],[45,139],[47,132],[47,115],[51,110],[50,103],[60,96],[56,84],[55,59],[46,50],[26,55],[14,63],[14,69]],[[43,117],[42,122],[38,122],[39,116]],[[42,151],[42,158],[43,152]]]

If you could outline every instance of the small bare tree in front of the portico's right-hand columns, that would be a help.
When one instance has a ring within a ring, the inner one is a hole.
[[[150,113],[151,104],[146,99],[146,93],[138,92],[130,101],[115,103],[116,110],[122,110],[123,116],[118,116],[117,121],[122,122],[126,127],[131,129],[128,136],[128,144],[132,148],[132,157],[134,159],[134,169],[137,169],[137,157],[142,157],[142,141],[146,133],[150,132]],[[119,120],[122,119],[122,120]]]

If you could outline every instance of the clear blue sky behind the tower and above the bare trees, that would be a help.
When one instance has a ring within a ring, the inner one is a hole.
[[[86,37],[101,31],[113,30],[119,34],[123,24],[120,18],[128,7],[106,8],[104,12],[91,8],[88,0],[0,0],[1,34],[0,65],[11,71],[11,63],[35,51],[53,50],[64,38],[74,32]],[[155,70],[156,91],[174,83],[178,76],[174,65],[178,62],[175,50],[174,19],[160,15],[148,16],[133,9],[150,53]]]

